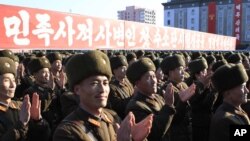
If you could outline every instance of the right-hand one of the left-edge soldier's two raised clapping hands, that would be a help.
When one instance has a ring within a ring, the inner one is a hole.
[[[32,95],[32,105],[30,108],[30,117],[33,120],[40,120],[41,116],[41,101],[39,100],[39,95],[37,93],[33,93]]]

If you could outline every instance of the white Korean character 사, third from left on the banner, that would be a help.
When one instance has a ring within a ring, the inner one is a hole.
[[[67,31],[65,31],[66,24],[63,21],[59,22],[59,29],[57,30],[54,40],[58,40],[61,36],[65,38],[68,37],[68,45],[72,46],[73,44],[73,35],[75,34],[75,30],[73,29],[73,19],[70,16],[65,17],[67,23]]]

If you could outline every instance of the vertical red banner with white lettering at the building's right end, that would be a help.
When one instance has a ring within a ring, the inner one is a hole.
[[[236,37],[236,44],[240,44],[241,14],[242,0],[234,0],[234,36]]]

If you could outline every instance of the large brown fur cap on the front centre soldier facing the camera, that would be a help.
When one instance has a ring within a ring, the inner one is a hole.
[[[105,75],[110,80],[112,71],[109,58],[98,50],[77,54],[66,63],[66,75],[71,90],[76,84],[90,76]]]

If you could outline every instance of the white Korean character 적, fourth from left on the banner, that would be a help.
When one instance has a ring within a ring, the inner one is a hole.
[[[92,47],[93,45],[93,20],[87,19],[87,24],[77,24],[77,28],[79,33],[76,37],[76,40],[86,41],[88,40],[88,45]]]

